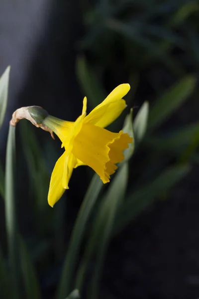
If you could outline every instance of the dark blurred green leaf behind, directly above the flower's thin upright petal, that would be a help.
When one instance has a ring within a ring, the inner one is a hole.
[[[77,57],[76,73],[85,96],[88,98],[92,108],[95,108],[105,99],[105,93],[84,56]]]

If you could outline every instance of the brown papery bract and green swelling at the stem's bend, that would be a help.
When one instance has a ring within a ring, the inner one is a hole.
[[[42,121],[47,116],[48,116],[48,112],[44,110],[42,107],[39,106],[21,107],[16,111],[14,111],[9,124],[12,127],[16,127],[16,124],[20,120],[26,119],[30,121],[35,127],[41,128],[42,130],[49,132],[51,137],[55,139],[53,135],[53,131],[42,123]]]

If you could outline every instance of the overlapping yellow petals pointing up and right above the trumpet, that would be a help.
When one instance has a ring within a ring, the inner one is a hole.
[[[98,105],[84,120],[84,123],[90,123],[104,128],[111,124],[126,107],[126,102],[122,99],[130,89],[129,84],[117,86],[107,98]]]

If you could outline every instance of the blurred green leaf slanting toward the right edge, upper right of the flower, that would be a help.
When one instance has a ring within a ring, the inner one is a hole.
[[[177,110],[192,94],[196,78],[188,75],[169,88],[149,111],[148,128],[154,129]]]

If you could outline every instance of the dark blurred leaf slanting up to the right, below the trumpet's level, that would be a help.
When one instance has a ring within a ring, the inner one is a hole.
[[[157,196],[164,194],[173,185],[185,177],[190,171],[188,165],[174,166],[165,170],[157,178],[140,186],[133,191],[119,209],[115,222],[114,234],[120,232],[126,225],[135,219],[143,210],[150,206]]]

